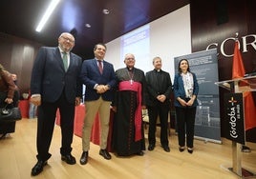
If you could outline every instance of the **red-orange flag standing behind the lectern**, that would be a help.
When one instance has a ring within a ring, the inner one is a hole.
[[[245,67],[241,52],[236,41],[233,57],[232,79],[241,78],[245,75]],[[250,91],[244,92],[245,104],[245,130],[256,128],[256,107]]]

